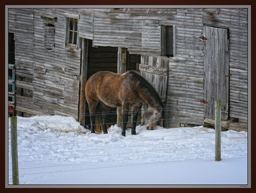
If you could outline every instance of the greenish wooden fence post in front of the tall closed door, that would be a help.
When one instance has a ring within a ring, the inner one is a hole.
[[[221,146],[221,101],[215,101],[215,161],[220,161]]]

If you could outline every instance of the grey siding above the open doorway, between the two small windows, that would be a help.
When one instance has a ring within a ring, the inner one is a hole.
[[[176,14],[176,9],[101,9],[101,14],[95,9],[80,11],[94,14],[93,45],[124,47],[131,54],[153,55],[161,54],[161,29],[158,19],[148,17],[156,16],[152,15],[156,13],[165,18],[166,15]],[[86,27],[80,29],[85,31]]]

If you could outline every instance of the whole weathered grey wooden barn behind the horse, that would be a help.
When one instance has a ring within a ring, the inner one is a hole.
[[[248,10],[23,9],[8,11],[15,39],[15,110],[89,125],[86,80],[101,70],[141,73],[164,101],[166,128],[247,130]],[[23,113],[23,114],[22,114]]]

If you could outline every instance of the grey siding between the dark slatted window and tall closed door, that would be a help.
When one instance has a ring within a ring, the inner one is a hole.
[[[202,12],[194,9],[177,9],[169,20],[197,21]],[[161,25],[175,27],[176,57],[169,58],[169,74],[164,112],[164,127],[179,127],[180,123],[204,124],[204,60],[200,22],[183,23],[159,21]]]

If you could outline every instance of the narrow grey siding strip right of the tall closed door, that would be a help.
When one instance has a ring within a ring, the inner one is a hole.
[[[220,9],[225,12],[228,9]],[[211,14],[204,12],[204,17]],[[220,19],[221,18],[221,19]],[[204,20],[204,24],[229,29],[230,117],[247,125],[248,116],[248,10],[232,9],[227,14]]]

